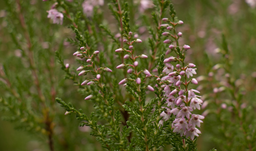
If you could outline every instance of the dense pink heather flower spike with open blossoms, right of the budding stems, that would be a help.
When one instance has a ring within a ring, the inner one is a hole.
[[[177,56],[170,56],[164,60],[166,68],[163,70],[166,76],[159,79],[165,83],[162,85],[164,88],[164,96],[166,99],[167,107],[164,112],[161,113],[161,116],[164,120],[168,120],[172,114],[176,115],[175,120],[172,123],[173,132],[180,133],[180,135],[190,136],[191,140],[194,139],[194,136],[199,136],[201,132],[198,130],[201,119],[204,119],[204,116],[192,114],[191,112],[194,109],[199,109],[203,101],[200,99],[201,96],[198,96],[197,93],[200,93],[197,90],[189,89],[188,85],[190,83],[197,85],[198,82],[196,79],[188,80],[194,74],[196,74],[196,65],[189,63],[185,66],[184,51],[190,49],[190,46],[183,45],[182,48],[178,45],[178,39],[182,36],[181,32],[176,33],[175,27],[182,25],[182,21],[175,22],[169,21],[168,18],[163,18],[163,21],[169,22],[165,24],[169,31],[173,31],[174,34],[169,32],[164,32],[164,36],[171,36],[172,39],[166,39],[164,43],[170,44],[167,54],[174,52]],[[174,45],[173,43],[176,43]],[[176,65],[173,66],[170,62],[176,62]]]

